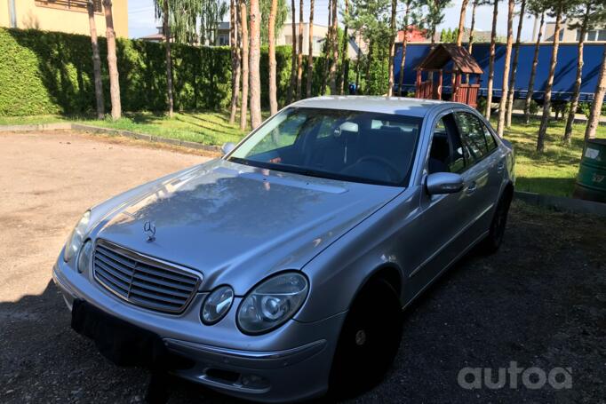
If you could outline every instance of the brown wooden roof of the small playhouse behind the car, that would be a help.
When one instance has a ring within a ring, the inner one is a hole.
[[[458,73],[482,75],[483,70],[463,46],[438,44],[416,67],[417,70],[440,70],[452,60],[452,70]]]

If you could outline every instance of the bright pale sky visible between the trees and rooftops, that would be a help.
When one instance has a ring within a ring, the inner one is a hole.
[[[314,6],[314,22],[315,24],[326,25],[328,22],[328,2],[329,0],[315,0]],[[458,27],[458,14],[460,12],[462,0],[454,0],[451,6],[445,12],[445,18],[443,24],[438,27],[438,31],[443,28],[457,28]],[[155,34],[157,32],[157,28],[160,23],[155,20],[154,15],[154,2],[153,0],[128,0],[128,9],[129,9],[129,36],[132,38],[137,38],[140,36],[147,36],[150,34]],[[295,2],[297,4],[297,10],[299,10],[299,1]],[[466,17],[466,27],[469,27],[471,23],[471,3],[469,2],[469,6],[467,8],[467,17]],[[309,15],[309,0],[304,0],[303,12],[305,16],[305,20],[307,21],[307,17]],[[400,11],[403,9],[402,6],[398,7]],[[516,8],[517,10],[517,8]],[[297,12],[299,14],[299,12]],[[226,20],[229,18],[229,15],[226,15]],[[517,20],[516,17],[514,19],[514,33],[517,29]],[[532,25],[534,23],[534,18],[526,18],[524,19],[524,23],[522,25],[522,41],[530,40],[532,36]],[[506,2],[502,2],[498,7],[498,36],[506,36],[507,31],[507,4]],[[491,5],[483,5],[479,6],[476,10],[475,16],[475,28],[482,31],[490,31],[492,28],[492,6]]]

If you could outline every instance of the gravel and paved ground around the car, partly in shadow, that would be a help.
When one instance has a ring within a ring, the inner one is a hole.
[[[0,402],[142,401],[148,372],[116,368],[69,328],[52,262],[86,207],[205,157],[68,132],[0,134],[0,151]],[[606,402],[604,246],[603,218],[514,203],[501,250],[470,254],[411,306],[394,368],[354,401]],[[462,368],[497,381],[511,362],[569,368],[571,386],[458,384]],[[229,401],[171,388],[171,403]]]

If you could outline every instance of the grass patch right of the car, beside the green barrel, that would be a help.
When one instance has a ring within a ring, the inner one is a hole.
[[[497,127],[496,122],[492,123]],[[544,154],[535,152],[539,121],[530,121],[528,125],[515,119],[505,132],[505,139],[515,147],[515,189],[538,194],[570,196],[574,189],[581,161],[585,124],[574,125],[572,145],[562,146],[562,134],[565,121],[549,123]],[[606,138],[606,127],[599,126],[598,138]]]

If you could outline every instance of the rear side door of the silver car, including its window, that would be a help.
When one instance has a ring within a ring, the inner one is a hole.
[[[466,182],[463,192],[468,204],[468,242],[474,242],[490,226],[505,165],[495,153],[495,140],[481,118],[466,110],[455,111],[455,116],[468,154],[468,166],[463,173]]]

